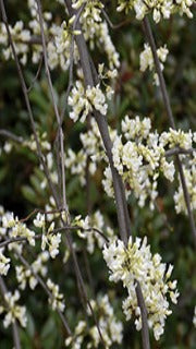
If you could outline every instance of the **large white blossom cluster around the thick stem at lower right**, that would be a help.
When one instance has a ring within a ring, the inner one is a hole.
[[[136,287],[139,282],[148,313],[148,325],[154,329],[158,340],[164,330],[164,322],[172,313],[169,309],[168,294],[173,303],[176,303],[179,292],[176,280],[170,281],[172,265],[161,263],[161,256],[150,252],[147,239],[136,238],[133,242],[128,239],[127,246],[121,240],[113,240],[109,245],[105,244],[103,258],[110,270],[109,279],[122,281],[127,289],[127,298],[123,301],[123,312],[128,321],[134,314],[136,329],[142,328],[140,309],[137,303]]]

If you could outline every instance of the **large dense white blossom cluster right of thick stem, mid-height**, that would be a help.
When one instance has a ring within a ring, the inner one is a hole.
[[[158,133],[150,132],[150,119],[145,118],[140,121],[136,117],[135,120],[131,120],[126,116],[122,121],[126,141],[123,142],[122,136],[118,136],[112,154],[114,166],[126,184],[127,195],[133,191],[142,207],[149,197],[152,209],[158,195],[159,173],[161,171],[167,179],[173,181],[174,164],[166,160],[161,140]],[[107,183],[109,186],[109,181]]]

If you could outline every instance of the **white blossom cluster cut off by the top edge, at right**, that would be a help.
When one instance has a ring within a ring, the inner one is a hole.
[[[130,10],[134,10],[136,19],[139,21],[149,12],[152,12],[152,19],[156,23],[159,23],[161,19],[170,19],[172,13],[193,17],[191,12],[193,0],[118,0],[118,4],[117,11],[127,13]]]

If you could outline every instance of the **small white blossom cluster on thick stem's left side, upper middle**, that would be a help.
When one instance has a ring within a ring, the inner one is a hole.
[[[86,120],[86,117],[93,112],[94,108],[100,111],[103,116],[107,113],[108,105],[106,103],[106,96],[100,89],[99,84],[97,86],[87,86],[86,91],[81,81],[76,81],[75,86],[68,99],[69,106],[72,107],[70,118],[74,121],[79,119],[81,122]]]

